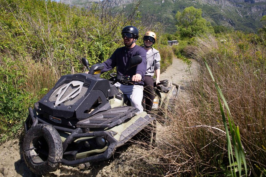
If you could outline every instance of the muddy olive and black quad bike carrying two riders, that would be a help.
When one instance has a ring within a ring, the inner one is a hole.
[[[141,61],[133,57],[127,69]],[[113,85],[127,84],[131,78],[119,75],[108,81],[100,78],[102,64],[89,68],[84,58],[82,63],[88,74],[63,75],[34,109],[29,108],[22,153],[35,174],[56,170],[59,164],[84,168],[109,159],[138,133],[144,133],[150,145],[155,142],[155,117],[124,106],[124,95]]]

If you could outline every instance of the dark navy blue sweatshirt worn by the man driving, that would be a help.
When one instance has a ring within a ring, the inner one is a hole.
[[[125,70],[129,65],[129,60],[136,55],[140,55],[142,57],[142,62],[125,73]],[[142,79],[144,80],[144,75],[147,70],[146,55],[146,51],[138,45],[135,45],[131,49],[128,49],[125,46],[118,48],[116,49],[116,51],[114,51],[109,59],[103,62],[104,69],[101,70],[101,73],[117,67],[117,75],[129,75],[130,77],[132,77],[133,75],[140,74],[142,76]],[[143,82],[135,84],[144,85]]]

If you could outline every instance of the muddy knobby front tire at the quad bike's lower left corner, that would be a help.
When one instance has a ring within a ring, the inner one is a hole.
[[[37,124],[27,131],[22,153],[29,169],[35,174],[43,175],[57,169],[61,163],[62,140],[51,125]]]

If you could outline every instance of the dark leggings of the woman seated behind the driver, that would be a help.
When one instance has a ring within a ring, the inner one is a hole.
[[[144,76],[144,92],[145,96],[145,107],[147,113],[151,112],[151,108],[153,105],[153,100],[155,98],[154,88],[153,88],[153,78],[151,76]]]

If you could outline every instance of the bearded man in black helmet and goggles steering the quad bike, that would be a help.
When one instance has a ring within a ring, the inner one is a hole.
[[[125,46],[116,49],[111,57],[102,63],[104,69],[101,70],[101,73],[116,67],[117,75],[132,77],[134,83],[128,83],[127,85],[117,83],[116,86],[128,97],[131,106],[138,108],[139,112],[143,112],[141,102],[143,98],[143,80],[147,68],[146,51],[135,43],[138,39],[138,29],[136,27],[126,26],[122,29],[121,34]],[[142,62],[126,71],[129,59],[137,55],[142,57]]]

